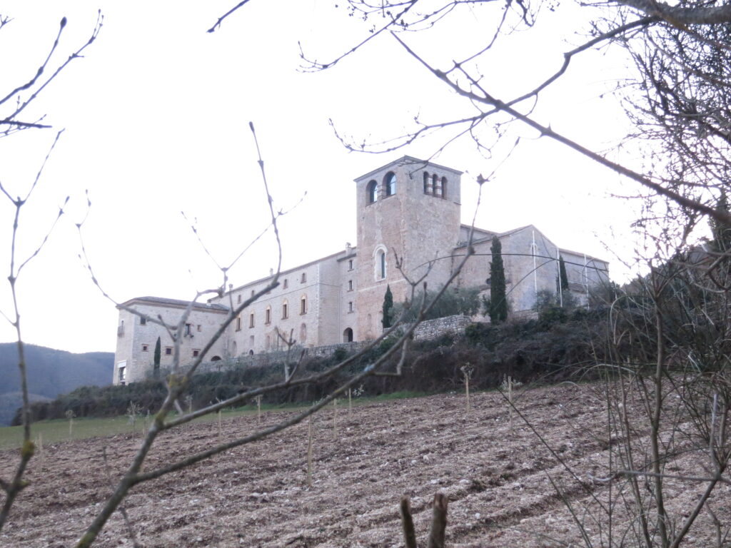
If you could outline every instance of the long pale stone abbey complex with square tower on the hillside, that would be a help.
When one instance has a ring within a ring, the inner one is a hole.
[[[432,265],[428,286],[439,288],[466,252],[469,226],[461,224],[461,172],[404,156],[355,179],[357,246],[283,271],[279,286],[242,316],[208,352],[206,361],[280,349],[277,332],[293,333],[305,347],[376,338],[386,286],[394,302],[404,301],[408,283],[395,268],[394,251],[404,271],[417,278]],[[537,293],[556,292],[558,257],[564,259],[569,292],[586,302],[591,286],[608,281],[607,262],[559,248],[536,227],[508,232],[474,229],[471,257],[456,286],[477,287],[490,296],[491,243],[501,242],[512,313],[531,311]],[[436,259],[436,260],[435,260]],[[181,338],[181,362],[198,357],[230,310],[265,286],[270,277],[232,287],[222,297],[194,305]],[[151,317],[177,323],[188,302],[137,297],[123,303]],[[482,316],[476,318],[486,321]],[[152,368],[157,338],[161,365],[173,359],[173,340],[157,324],[120,308],[114,383],[138,381]]]

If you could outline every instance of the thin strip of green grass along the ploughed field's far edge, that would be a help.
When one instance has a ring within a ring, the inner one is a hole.
[[[363,406],[371,402],[380,402],[387,400],[403,400],[412,397],[424,397],[428,394],[425,392],[410,392],[404,390],[401,392],[393,392],[392,394],[382,394],[376,397],[357,397],[353,398],[353,406]],[[348,405],[348,398],[340,398],[338,407]],[[268,404],[262,403],[262,413],[276,412],[276,411],[296,411],[298,409],[306,409],[311,404],[304,403],[289,403],[289,404]],[[232,418],[235,416],[246,416],[257,414],[257,406],[247,405],[240,408],[221,411],[221,416],[224,419]],[[217,420],[216,414],[209,414],[202,416],[199,419],[195,419],[193,422],[211,422]],[[140,436],[140,429],[145,424],[144,418],[137,419],[137,425],[135,425],[135,433]],[[81,440],[86,438],[95,438],[98,436],[115,435],[121,433],[132,433],[132,425],[129,423],[129,417],[114,416],[107,418],[93,418],[93,417],[80,417],[74,419],[74,426],[72,429],[72,435],[69,435],[69,421],[67,419],[55,419],[50,421],[34,422],[31,425],[31,439],[32,441],[38,441],[38,436],[42,435],[43,444],[57,444],[61,441],[69,440]],[[0,427],[0,449],[15,449],[20,447],[23,441],[23,427],[22,426],[7,426]]]

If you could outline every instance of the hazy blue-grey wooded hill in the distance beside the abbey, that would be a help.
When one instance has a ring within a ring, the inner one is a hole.
[[[105,386],[112,382],[112,352],[72,354],[26,344],[25,354],[31,400],[53,399],[77,387]],[[0,425],[10,424],[21,401],[18,346],[0,343]]]

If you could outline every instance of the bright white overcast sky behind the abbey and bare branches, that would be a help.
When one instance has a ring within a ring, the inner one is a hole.
[[[92,201],[86,248],[105,290],[118,301],[148,294],[191,298],[221,278],[181,211],[197,218],[222,263],[268,222],[249,121],[257,127],[277,208],[290,208],[306,192],[281,220],[287,268],[334,253],[346,241],[355,245],[353,178],[404,154],[426,158],[445,140],[442,135],[385,155],[348,153],[328,118],[360,142],[401,134],[417,114],[441,121],[469,112],[390,37],[325,72],[299,71],[298,41],[311,56],[330,60],[366,32],[334,0],[251,0],[207,34],[234,3],[3,2],[0,13],[14,20],[0,31],[2,95],[33,75],[64,15],[69,22],[57,62],[86,41],[97,8],[105,16],[85,57],[70,64],[23,118],[45,113],[54,130],[0,139],[0,180],[19,194],[33,180],[55,131],[65,129],[20,219],[22,257],[37,245],[64,197],[71,197],[69,214],[18,282],[26,342],[75,352],[115,348],[117,311],[78,258],[74,224],[83,218],[86,189]],[[505,38],[482,65],[492,91],[507,98],[556,69],[562,53],[581,42],[575,31],[585,22],[577,14],[585,12],[568,6],[546,12],[538,28]],[[438,33],[405,39],[446,63],[480,43],[485,15],[487,9],[467,11]],[[618,66],[604,53],[579,60],[545,94],[539,121],[595,150],[615,143],[624,134],[623,113],[600,95],[622,74]],[[559,246],[609,259],[613,278],[626,278],[629,272],[613,253],[630,258],[634,215],[610,193],[631,194],[635,186],[560,145],[516,131],[523,142],[485,189],[477,226],[535,224]],[[464,222],[471,220],[477,197],[474,178],[502,159],[501,151],[485,159],[467,139],[434,159],[466,171]],[[10,255],[12,213],[7,199],[0,202],[0,265]],[[275,260],[272,240],[265,238],[231,273],[232,283],[268,274]],[[0,286],[0,309],[12,311],[7,283]],[[14,337],[1,322],[0,341]]]

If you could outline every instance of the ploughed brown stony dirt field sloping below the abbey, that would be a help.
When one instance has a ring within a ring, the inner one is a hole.
[[[610,444],[606,406],[594,387],[564,384],[520,393],[518,408],[542,435],[551,454],[518,417],[512,430],[498,393],[471,398],[438,395],[354,408],[332,408],[314,423],[314,484],[307,487],[307,425],[243,446],[181,473],[135,488],[125,506],[140,544],[152,547],[399,547],[398,503],[412,498],[417,535],[423,539],[437,491],[450,499],[448,547],[564,546],[579,541],[562,496],[588,538],[609,545],[599,504],[617,497],[621,484],[604,476]],[[262,425],[281,419],[267,414]],[[224,433],[243,435],[256,416],[224,420]],[[146,470],[215,444],[216,422],[164,435]],[[110,494],[110,474],[124,470],[139,439],[129,435],[45,447],[34,459],[31,485],[0,535],[2,547],[71,547]],[[109,470],[102,449],[107,446]],[[557,457],[576,474],[572,478]],[[669,473],[702,474],[697,454],[668,465]],[[13,452],[0,453],[0,477],[10,476]],[[552,482],[563,493],[557,494]],[[705,484],[668,481],[669,511],[679,524]],[[711,508],[729,525],[731,487],[718,487]],[[715,529],[702,513],[683,546],[713,546]],[[595,519],[597,518],[597,519]],[[612,544],[621,545],[624,511],[613,515]],[[425,545],[425,544],[424,544]],[[631,537],[625,546],[635,545]],[[96,543],[132,546],[116,513]]]

